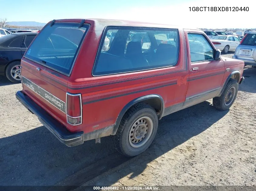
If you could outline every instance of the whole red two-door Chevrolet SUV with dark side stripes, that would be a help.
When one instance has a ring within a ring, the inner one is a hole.
[[[149,147],[163,116],[211,98],[228,110],[244,80],[244,62],[201,30],[103,19],[49,22],[21,66],[17,99],[60,142],[111,135],[126,156]]]

